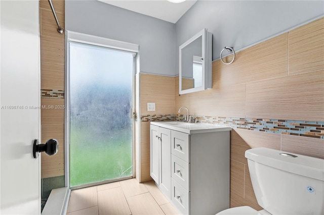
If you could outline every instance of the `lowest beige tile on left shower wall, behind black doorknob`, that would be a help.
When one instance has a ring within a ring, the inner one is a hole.
[[[64,175],[64,125],[42,125],[42,143],[57,139],[59,150],[55,155],[42,153],[42,178]]]

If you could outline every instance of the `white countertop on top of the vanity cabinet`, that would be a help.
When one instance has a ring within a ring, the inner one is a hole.
[[[229,126],[220,126],[220,125],[207,124],[207,123],[187,123],[187,122],[180,122],[180,121],[151,122],[151,125],[172,129],[187,134],[232,130],[232,128]]]

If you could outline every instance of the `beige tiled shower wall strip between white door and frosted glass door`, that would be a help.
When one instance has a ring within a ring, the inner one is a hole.
[[[52,1],[64,29],[65,1]],[[41,32],[41,124],[42,142],[55,138],[59,151],[54,156],[42,155],[42,179],[64,178],[64,33],[57,25],[49,1],[39,1]],[[62,185],[64,187],[64,184]],[[57,188],[57,187],[55,187]]]

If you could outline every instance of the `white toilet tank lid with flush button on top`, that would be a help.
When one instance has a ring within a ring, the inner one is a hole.
[[[264,147],[246,150],[245,157],[269,167],[324,181],[324,159]]]

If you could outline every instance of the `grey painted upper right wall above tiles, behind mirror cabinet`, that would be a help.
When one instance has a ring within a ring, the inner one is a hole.
[[[179,47],[203,28],[213,33],[213,60],[224,46],[234,50],[323,16],[324,1],[197,1],[176,23]]]

